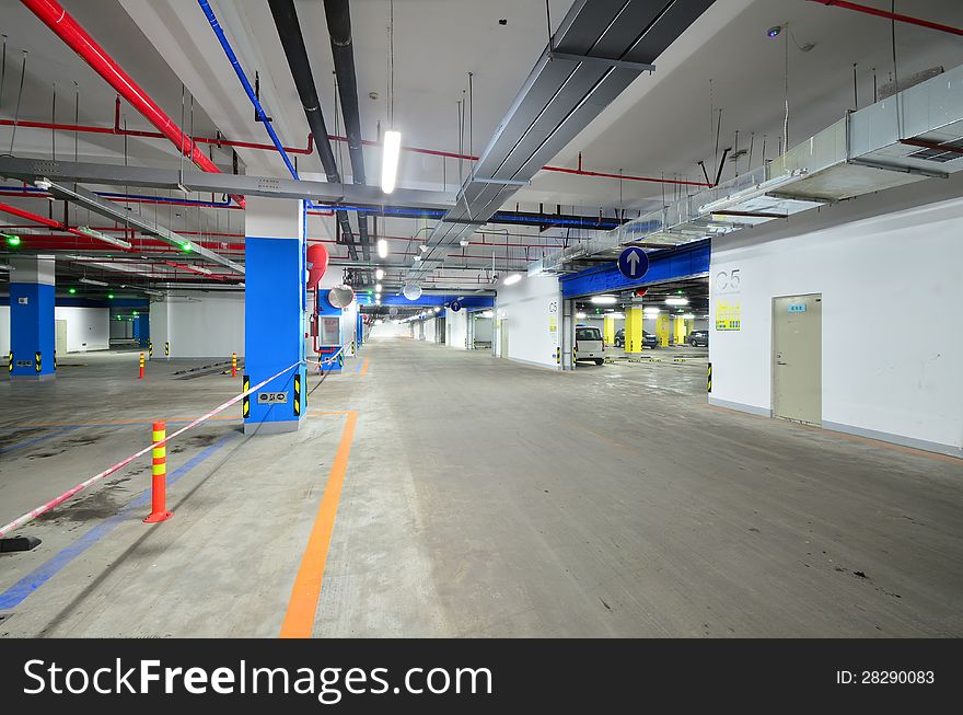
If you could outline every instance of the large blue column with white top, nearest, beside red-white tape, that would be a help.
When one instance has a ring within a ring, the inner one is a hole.
[[[244,211],[244,377],[254,387],[298,364],[246,399],[244,434],[293,431],[308,407],[304,364],[306,269],[304,206],[248,196]]]

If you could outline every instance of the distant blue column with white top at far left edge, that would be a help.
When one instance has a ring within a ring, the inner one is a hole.
[[[54,258],[24,256],[10,263],[10,378],[53,380]]]

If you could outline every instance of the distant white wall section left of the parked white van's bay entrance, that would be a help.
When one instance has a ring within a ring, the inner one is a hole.
[[[553,312],[554,311],[554,312]],[[525,277],[513,286],[499,286],[495,298],[496,355],[501,353],[500,324],[508,326],[508,358],[519,362],[558,369],[561,321],[561,290],[555,276]],[[549,321],[556,320],[556,330]]]

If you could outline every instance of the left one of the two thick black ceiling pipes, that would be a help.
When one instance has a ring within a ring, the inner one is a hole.
[[[317,148],[317,155],[321,158],[325,174],[327,174],[327,181],[340,184],[341,176],[338,173],[330,140],[327,138],[327,127],[321,111],[321,100],[317,99],[311,64],[308,61],[308,50],[304,47],[304,37],[301,35],[301,25],[298,22],[298,11],[294,10],[292,0],[269,0],[268,4],[275,19],[275,27],[278,31],[281,47],[285,48],[285,57],[288,59],[291,77],[294,79],[294,87],[298,88],[298,96],[304,107],[308,126],[311,127],[311,134],[314,135],[314,146]],[[355,247],[355,234],[351,232],[348,212],[337,210],[335,216],[348,246],[348,255],[352,261],[357,261],[358,251]]]

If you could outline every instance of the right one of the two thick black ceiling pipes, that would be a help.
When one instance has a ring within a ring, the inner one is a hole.
[[[286,0],[294,12],[293,2]],[[355,49],[351,44],[351,11],[348,0],[324,0],[324,16],[330,35],[332,56],[335,76],[338,80],[338,96],[341,100],[341,116],[345,118],[345,134],[348,136],[348,157],[351,160],[351,181],[367,184],[364,175],[364,149],[361,143],[361,113],[358,108],[358,79],[355,76]],[[305,56],[304,62],[308,62]],[[309,68],[310,69],[310,68]],[[368,237],[368,217],[358,215],[358,234],[364,261],[371,260]]]

